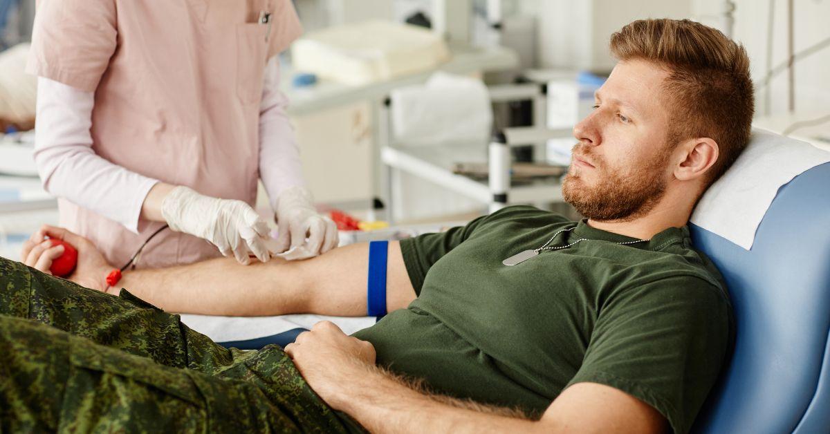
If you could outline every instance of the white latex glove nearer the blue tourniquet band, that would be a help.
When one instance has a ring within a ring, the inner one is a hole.
[[[339,242],[337,225],[317,213],[311,193],[302,187],[286,188],[277,197],[276,224],[278,234],[271,251],[291,250],[293,255],[283,256],[288,260],[320,255]]]

